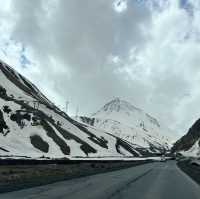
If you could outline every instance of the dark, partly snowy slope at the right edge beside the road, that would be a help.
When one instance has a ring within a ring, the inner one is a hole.
[[[184,156],[200,157],[200,119],[174,144],[172,151]]]

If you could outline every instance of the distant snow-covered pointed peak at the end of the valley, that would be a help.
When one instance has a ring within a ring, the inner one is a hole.
[[[129,102],[116,98],[91,117],[79,117],[78,121],[118,136],[138,148],[151,153],[171,147],[170,130],[157,119]]]

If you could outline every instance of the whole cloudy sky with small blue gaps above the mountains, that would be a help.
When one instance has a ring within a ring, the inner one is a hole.
[[[186,133],[200,117],[200,1],[0,0],[0,59],[69,112],[128,100]]]

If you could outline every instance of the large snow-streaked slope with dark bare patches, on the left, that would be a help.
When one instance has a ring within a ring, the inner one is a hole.
[[[29,80],[0,61],[0,157],[141,157],[151,153],[71,119]]]

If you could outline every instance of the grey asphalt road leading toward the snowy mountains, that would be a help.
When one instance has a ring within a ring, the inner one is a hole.
[[[0,199],[199,199],[200,186],[175,161],[58,182],[7,194]]]

